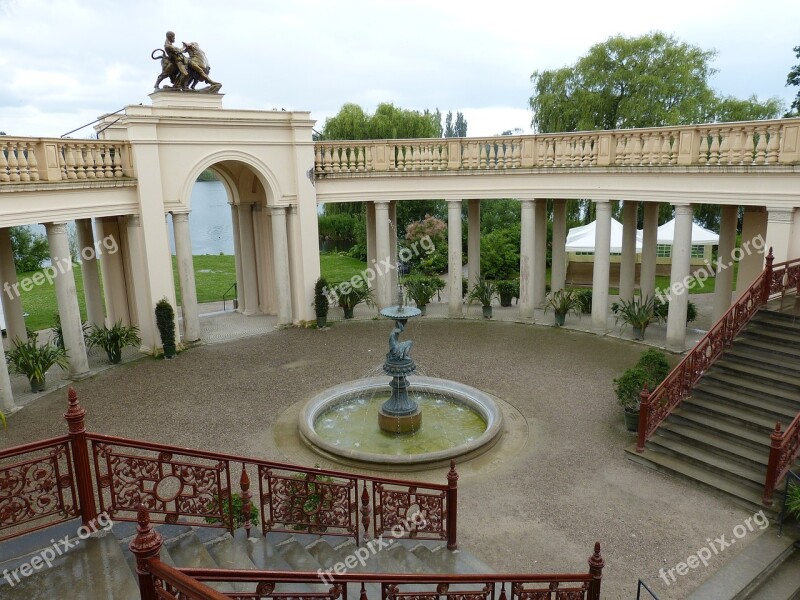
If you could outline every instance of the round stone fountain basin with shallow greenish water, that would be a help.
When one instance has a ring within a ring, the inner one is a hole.
[[[409,395],[429,395],[436,399],[434,402],[437,404],[435,410],[422,406],[424,415],[422,429],[419,432],[402,435],[381,432],[375,423],[374,410],[370,412],[368,407],[366,413],[372,416],[364,419],[363,440],[356,437],[345,440],[345,443],[336,443],[339,440],[333,440],[330,436],[321,435],[318,432],[318,429],[331,427],[330,423],[320,422],[320,418],[327,411],[334,409],[334,411],[348,413],[350,409],[353,409],[353,415],[358,415],[360,407],[355,406],[356,404],[368,404],[370,399],[382,398],[382,395],[387,395],[388,391],[388,381],[382,378],[358,379],[325,390],[312,398],[300,413],[301,439],[315,452],[338,462],[353,465],[367,463],[371,468],[376,469],[404,470],[408,467],[443,466],[453,458],[462,460],[472,458],[491,448],[502,432],[502,412],[487,394],[455,381],[416,376],[409,380]],[[439,402],[439,399],[442,401]],[[448,413],[447,411],[452,412]],[[464,414],[465,411],[475,413],[475,417]],[[437,417],[437,412],[442,412],[442,414]],[[346,417],[347,415],[345,415]],[[437,418],[441,424],[441,430],[436,429],[439,426]],[[448,440],[444,438],[453,437],[450,435],[451,430],[459,419],[465,420],[470,426],[473,426],[476,420],[481,421],[480,431],[476,431],[474,435],[467,432],[463,441],[451,447],[439,449],[440,446],[448,443]],[[445,431],[444,429],[448,427],[449,429]],[[384,436],[384,439],[379,439],[377,444],[372,444],[373,447],[367,450],[366,448],[370,444],[362,444],[362,442],[369,441],[367,438],[374,435]],[[438,440],[438,438],[442,439]],[[421,448],[423,439],[429,440],[428,445],[434,446],[435,449]]]

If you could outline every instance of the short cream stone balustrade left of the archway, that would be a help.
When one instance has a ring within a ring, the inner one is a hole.
[[[133,176],[127,142],[0,136],[0,185]]]

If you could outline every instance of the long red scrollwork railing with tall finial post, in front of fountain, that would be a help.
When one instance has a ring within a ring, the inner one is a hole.
[[[69,435],[0,452],[0,539],[78,515],[89,524],[98,511],[136,521],[143,504],[157,523],[249,532],[258,508],[265,534],[324,533],[359,544],[391,532],[457,547],[453,462],[447,483],[433,484],[87,433],[86,411],[72,388],[64,417]],[[16,459],[27,454],[33,456]],[[6,458],[13,462],[4,464]],[[258,477],[255,492],[251,473]]]

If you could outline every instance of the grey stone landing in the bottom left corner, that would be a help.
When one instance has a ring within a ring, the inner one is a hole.
[[[74,532],[74,530],[73,530]],[[54,538],[55,539],[55,538]],[[49,544],[48,544],[49,545]],[[40,551],[47,546],[42,546]],[[24,563],[35,555],[28,555]],[[113,535],[87,538],[28,577],[9,577],[14,585],[0,578],[0,597],[3,600],[50,600],[68,597],[75,600],[139,600],[139,586],[128,569],[125,555]]]

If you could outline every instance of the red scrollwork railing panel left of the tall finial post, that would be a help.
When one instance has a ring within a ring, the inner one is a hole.
[[[0,540],[79,515],[69,436],[0,451]]]

